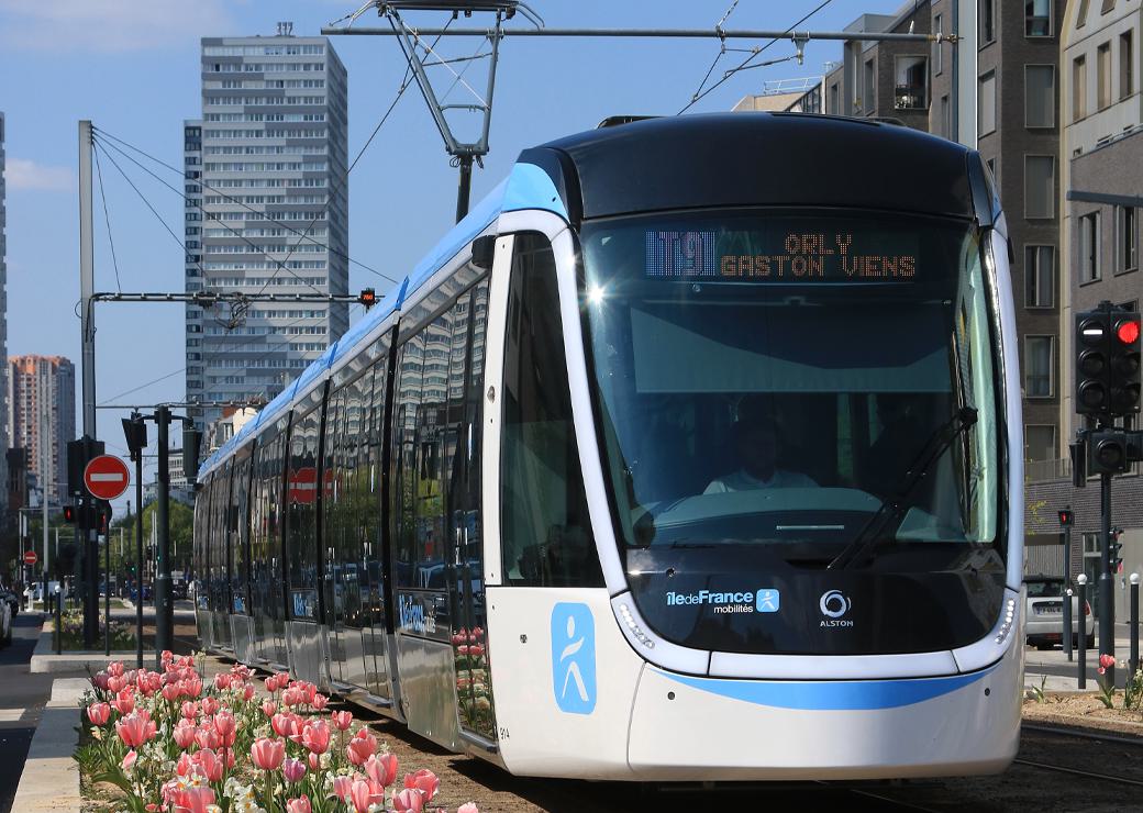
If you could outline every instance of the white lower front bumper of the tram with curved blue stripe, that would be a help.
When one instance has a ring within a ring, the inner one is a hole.
[[[1020,738],[1021,659],[900,681],[743,681],[647,665],[629,763],[644,780],[898,779],[1004,771]]]

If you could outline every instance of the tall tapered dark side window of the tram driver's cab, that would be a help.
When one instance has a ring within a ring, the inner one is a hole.
[[[572,422],[551,244],[515,239],[507,300],[501,539],[511,585],[601,586]]]

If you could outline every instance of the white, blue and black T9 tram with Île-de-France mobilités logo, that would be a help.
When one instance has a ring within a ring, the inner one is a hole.
[[[980,155],[892,123],[526,150],[205,461],[203,645],[514,774],[1002,771],[1010,251]]]

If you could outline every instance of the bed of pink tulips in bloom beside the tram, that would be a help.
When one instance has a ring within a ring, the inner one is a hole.
[[[111,788],[97,810],[144,813],[419,813],[440,810],[427,770],[399,782],[397,757],[350,711],[288,675],[259,698],[245,666],[203,682],[194,660],[162,671],[120,662],[91,678],[75,759],[88,784]],[[478,813],[472,803],[458,813]]]

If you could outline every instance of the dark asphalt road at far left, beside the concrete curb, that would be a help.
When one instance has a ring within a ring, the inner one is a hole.
[[[82,677],[29,671],[32,650],[40,637],[40,619],[39,613],[17,615],[11,646],[0,650],[0,813],[11,808],[27,746],[40,722],[40,711],[51,695],[51,682],[57,677]]]

